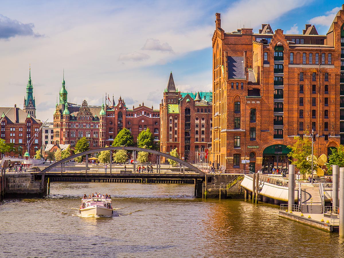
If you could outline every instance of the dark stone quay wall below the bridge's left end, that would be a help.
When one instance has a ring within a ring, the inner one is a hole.
[[[43,197],[47,181],[43,174],[6,174],[5,197]]]

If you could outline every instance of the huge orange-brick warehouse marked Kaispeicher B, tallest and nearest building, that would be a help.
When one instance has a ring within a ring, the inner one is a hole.
[[[344,143],[344,5],[326,35],[310,24],[300,35],[270,24],[225,33],[219,13],[215,23],[215,166],[285,169],[286,147],[312,130],[319,154]]]

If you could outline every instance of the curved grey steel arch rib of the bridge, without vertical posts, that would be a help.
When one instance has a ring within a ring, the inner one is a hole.
[[[138,148],[138,147],[104,147],[104,148],[98,148],[98,149],[93,149],[93,150],[88,150],[88,151],[84,151],[84,152],[80,152],[74,155],[69,156],[68,158],[62,159],[60,161],[55,162],[54,164],[51,164],[50,166],[48,166],[47,168],[42,170],[42,173],[45,173],[53,168],[55,168],[58,165],[61,165],[64,162],[67,162],[69,160],[75,159],[77,157],[86,155],[86,154],[91,154],[91,153],[95,153],[95,152],[100,152],[100,151],[109,151],[109,150],[132,150],[132,151],[144,151],[144,152],[148,152],[148,153],[152,153],[152,154],[157,154],[160,156],[163,156],[165,158],[174,160],[184,166],[186,166],[186,168],[191,169],[192,171],[196,172],[196,173],[200,173],[200,174],[204,174],[204,172],[202,170],[199,170],[198,168],[196,168],[195,166],[191,165],[190,163],[185,162],[184,160],[178,159],[176,157],[173,157],[169,154],[160,152],[160,151],[156,151],[156,150],[150,150],[150,149],[144,149],[144,148]]]

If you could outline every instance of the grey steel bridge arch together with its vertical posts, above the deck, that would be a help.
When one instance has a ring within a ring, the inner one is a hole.
[[[191,165],[190,163],[185,162],[184,160],[178,159],[176,157],[173,157],[173,156],[171,156],[169,154],[166,154],[166,153],[163,153],[163,152],[160,152],[160,151],[144,149],[144,148],[138,148],[138,147],[104,147],[104,148],[98,148],[98,149],[93,149],[93,150],[88,150],[88,151],[80,152],[80,153],[71,155],[68,158],[62,159],[60,161],[57,161],[57,162],[51,164],[47,168],[43,169],[41,171],[41,173],[49,172],[51,169],[55,168],[58,165],[61,165],[61,169],[62,169],[62,166],[63,166],[63,164],[65,162],[67,162],[69,160],[72,160],[72,159],[75,159],[77,157],[83,156],[83,155],[86,155],[86,170],[87,170],[87,168],[88,168],[88,154],[95,153],[95,152],[100,152],[100,151],[110,151],[110,164],[109,164],[110,166],[109,166],[109,169],[111,171],[112,151],[114,151],[114,150],[127,150],[127,151],[129,150],[129,151],[133,151],[133,156],[134,156],[133,159],[134,159],[134,161],[136,160],[136,152],[137,151],[144,151],[144,152],[148,152],[148,153],[152,153],[152,154],[157,154],[158,155],[157,156],[157,168],[158,168],[158,165],[159,165],[159,171],[160,171],[160,156],[163,156],[165,158],[168,158],[168,159],[171,159],[171,160],[174,160],[174,161],[180,163],[181,165],[185,166],[186,168],[191,169],[195,173],[199,173],[199,174],[204,175],[203,171],[199,170],[198,168],[196,168],[195,166]],[[135,171],[135,168],[136,168],[136,163],[134,162],[134,164],[133,164],[133,170],[134,171]]]

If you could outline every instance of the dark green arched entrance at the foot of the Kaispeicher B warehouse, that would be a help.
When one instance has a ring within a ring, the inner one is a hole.
[[[263,151],[262,168],[263,173],[271,173],[272,169],[279,169],[279,171],[288,171],[290,161],[288,153],[291,149],[283,144],[273,144],[266,147]]]

